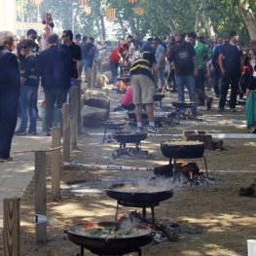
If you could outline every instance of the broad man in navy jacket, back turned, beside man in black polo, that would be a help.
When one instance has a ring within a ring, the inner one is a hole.
[[[71,56],[67,51],[59,49],[57,42],[56,34],[48,37],[50,48],[39,55],[36,68],[38,75],[42,78],[41,83],[46,97],[47,136],[52,135],[55,101],[62,130],[62,105],[67,100],[67,91],[73,71]]]

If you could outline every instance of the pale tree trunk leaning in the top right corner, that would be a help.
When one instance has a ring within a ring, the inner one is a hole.
[[[244,3],[244,0],[240,0],[238,12],[241,18],[244,20],[250,39],[256,40],[256,17],[249,8],[248,4]]]

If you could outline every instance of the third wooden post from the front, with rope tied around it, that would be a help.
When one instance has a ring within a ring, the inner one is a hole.
[[[52,148],[60,146],[60,128],[52,128]],[[52,151],[52,196],[60,196],[60,149]]]

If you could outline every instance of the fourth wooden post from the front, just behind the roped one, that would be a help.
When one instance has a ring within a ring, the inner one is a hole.
[[[63,104],[63,162],[70,162],[70,104]]]

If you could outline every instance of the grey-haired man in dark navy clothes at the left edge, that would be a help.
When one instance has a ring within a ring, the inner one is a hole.
[[[13,34],[0,32],[0,163],[10,162],[11,144],[18,119],[20,89],[18,60],[11,51]]]

